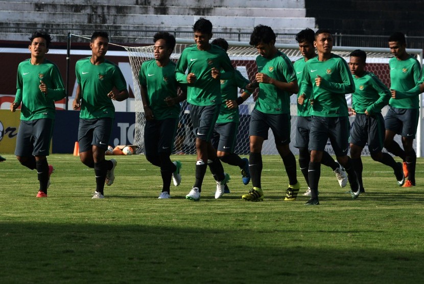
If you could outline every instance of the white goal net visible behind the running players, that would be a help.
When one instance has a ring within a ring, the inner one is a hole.
[[[255,48],[250,46],[247,42],[228,42],[229,49],[227,51],[231,62],[234,68],[237,68],[241,74],[253,81],[255,78],[255,73],[257,72],[255,58],[258,55]],[[172,60],[177,61],[181,55],[182,50],[190,44],[194,44],[193,40],[186,39],[177,39],[177,44],[175,50],[171,56]],[[295,44],[276,44],[276,47],[284,52],[293,62],[301,58],[301,54],[298,50],[298,46]],[[153,45],[151,46],[142,46],[142,47],[129,47],[124,46],[128,51],[130,64],[132,68],[132,76],[134,81],[134,96],[135,96],[135,133],[134,133],[134,144],[137,147],[137,153],[144,153],[144,109],[143,103],[140,96],[140,86],[138,83],[138,73],[140,66],[146,60],[153,58]],[[333,52],[342,56],[347,61],[349,60],[350,52],[355,49],[362,49],[367,53],[367,67],[366,69],[369,72],[374,73],[380,78],[380,80],[390,86],[390,70],[388,67],[389,59],[392,57],[389,49],[378,49],[378,48],[353,48],[353,47],[341,47],[334,46]],[[417,56],[418,60],[422,62],[422,51],[421,50],[407,50],[407,52]],[[239,90],[239,96],[240,96]],[[296,130],[296,121],[297,121],[297,97],[295,94],[291,96],[291,140],[295,140],[295,130]],[[351,94],[346,95],[346,100],[348,106],[351,106]],[[237,145],[235,147],[235,153],[239,155],[246,155],[249,153],[249,121],[250,113],[253,110],[255,102],[253,101],[253,96],[251,96],[246,102],[239,106],[240,112],[240,125],[239,131],[237,134]],[[383,115],[387,112],[387,107],[383,109]],[[354,117],[350,117],[351,122],[354,120]],[[421,121],[421,119],[420,119]],[[175,139],[175,146],[173,154],[195,154],[195,136],[192,133],[193,127],[190,120],[190,106],[186,102],[183,102],[181,105],[180,121],[178,124],[177,136]],[[216,137],[215,137],[216,138]],[[396,137],[398,143],[401,143],[400,137]],[[417,151],[417,154],[420,155],[420,124],[417,131],[417,140],[418,144],[414,142],[414,148]],[[213,138],[214,142],[214,138]],[[294,154],[298,154],[296,148],[290,144],[290,148]],[[418,145],[418,146],[417,146]],[[418,147],[418,149],[417,149]],[[326,151],[330,154],[334,154],[331,145],[327,143]],[[277,154],[274,145],[274,137],[272,132],[269,132],[269,138],[264,142],[263,145],[263,154]],[[365,147],[363,150],[364,155],[369,155],[368,148]]]

